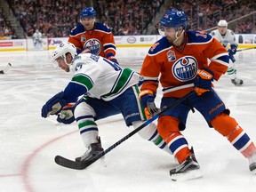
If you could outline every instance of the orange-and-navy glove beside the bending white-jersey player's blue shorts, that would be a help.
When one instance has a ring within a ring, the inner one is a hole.
[[[156,116],[156,114],[161,111],[160,108],[156,108],[155,97],[156,96],[154,92],[152,92],[151,90],[143,90],[139,94],[140,102],[142,108],[144,108],[147,119],[152,116]]]

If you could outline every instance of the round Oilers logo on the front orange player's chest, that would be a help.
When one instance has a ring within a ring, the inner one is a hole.
[[[181,82],[192,80],[196,76],[197,61],[192,56],[182,57],[172,66],[173,76]]]

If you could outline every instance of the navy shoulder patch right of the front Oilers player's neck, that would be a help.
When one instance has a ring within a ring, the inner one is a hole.
[[[188,44],[190,43],[202,43],[205,44],[212,40],[212,36],[207,33],[201,33],[199,31],[188,31]]]

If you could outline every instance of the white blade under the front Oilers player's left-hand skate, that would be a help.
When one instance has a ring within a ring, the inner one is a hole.
[[[184,180],[195,180],[197,178],[203,177],[203,173],[200,169],[185,172],[185,173],[176,173],[171,175],[173,181],[184,181]]]

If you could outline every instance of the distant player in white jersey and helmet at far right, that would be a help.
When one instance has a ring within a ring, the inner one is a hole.
[[[228,50],[230,60],[227,73],[231,79],[232,84],[244,84],[242,79],[236,78],[236,59],[234,55],[236,54],[238,44],[236,42],[236,36],[234,32],[228,29],[228,22],[226,20],[220,20],[218,22],[218,29],[213,30],[211,35],[214,36],[220,42],[220,44],[222,44]]]

